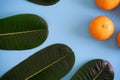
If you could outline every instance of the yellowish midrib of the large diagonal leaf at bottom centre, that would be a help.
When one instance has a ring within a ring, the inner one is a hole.
[[[68,55],[69,55],[69,54],[68,54]],[[36,72],[36,73],[28,76],[25,80],[29,80],[29,79],[32,78],[33,76],[35,76],[35,75],[39,74],[40,72],[42,72],[43,70],[46,70],[47,68],[49,68],[49,67],[51,67],[52,65],[56,64],[57,62],[61,61],[62,59],[64,59],[64,58],[65,58],[66,56],[68,56],[68,55],[63,56],[62,58],[60,58],[60,59],[54,61],[53,63],[49,64],[48,66],[44,67],[44,68],[41,69],[40,71],[38,71],[38,72]]]

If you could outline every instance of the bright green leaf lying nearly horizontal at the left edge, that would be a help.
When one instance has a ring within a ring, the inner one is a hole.
[[[0,19],[0,49],[31,49],[42,44],[47,36],[47,23],[37,15],[21,14]]]

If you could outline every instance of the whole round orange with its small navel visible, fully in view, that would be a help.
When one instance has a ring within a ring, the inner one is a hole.
[[[106,16],[98,16],[90,22],[90,34],[97,40],[107,40],[114,33],[114,24]]]

